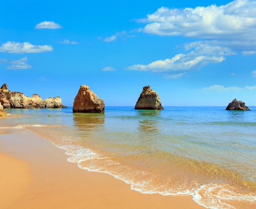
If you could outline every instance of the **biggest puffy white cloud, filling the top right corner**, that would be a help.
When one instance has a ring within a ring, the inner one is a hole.
[[[147,23],[145,33],[214,40],[216,45],[256,51],[256,1],[234,0],[220,7],[169,9],[161,7],[139,22]]]

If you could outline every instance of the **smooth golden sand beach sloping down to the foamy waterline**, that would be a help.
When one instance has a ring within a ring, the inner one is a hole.
[[[189,195],[139,193],[67,158],[36,133],[0,130],[0,209],[205,209]]]

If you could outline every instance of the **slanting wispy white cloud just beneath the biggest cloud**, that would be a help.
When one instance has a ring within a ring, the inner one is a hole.
[[[186,72],[210,64],[225,60],[225,55],[234,54],[226,47],[213,47],[203,42],[193,42],[185,45],[188,53],[180,53],[173,58],[157,60],[150,64],[135,64],[127,67],[127,70],[151,71],[151,72]],[[192,49],[192,50],[191,50]]]

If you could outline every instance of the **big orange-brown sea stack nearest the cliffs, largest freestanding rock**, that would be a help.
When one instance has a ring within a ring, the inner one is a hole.
[[[81,85],[73,105],[74,113],[101,113],[104,112],[103,99],[90,90],[90,87]]]

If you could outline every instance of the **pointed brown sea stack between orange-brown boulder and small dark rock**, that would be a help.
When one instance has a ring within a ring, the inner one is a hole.
[[[162,110],[160,98],[157,92],[150,89],[150,86],[143,87],[137,103],[135,104],[135,109],[155,109]]]

